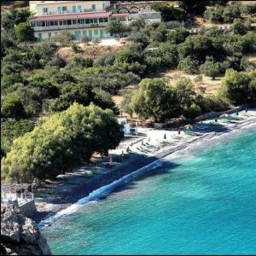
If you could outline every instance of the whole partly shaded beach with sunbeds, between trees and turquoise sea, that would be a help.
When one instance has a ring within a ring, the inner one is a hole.
[[[45,189],[50,193],[41,198],[35,195],[38,208],[35,220],[39,222],[49,218],[92,191],[167,155],[181,154],[191,145],[199,142],[207,144],[212,138],[236,133],[248,126],[256,128],[255,108],[247,113],[240,113],[238,118],[234,115],[234,119],[218,119],[217,123],[214,119],[208,119],[195,125],[193,132],[189,134],[183,129],[177,134],[177,131],[139,127],[138,137],[126,138],[118,148],[109,151],[108,157],[102,159],[95,156],[92,163],[79,167],[74,172],[60,175],[55,181],[45,183]]]

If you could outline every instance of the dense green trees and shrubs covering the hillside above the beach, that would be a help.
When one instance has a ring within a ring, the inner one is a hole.
[[[108,154],[122,138],[111,96],[131,84],[137,90],[125,93],[122,108],[139,119],[159,122],[180,116],[193,119],[231,104],[256,102],[256,73],[244,56],[255,51],[256,34],[253,20],[241,17],[253,13],[252,4],[187,1],[179,3],[179,8],[155,3],[154,9],[166,21],[201,15],[215,23],[232,22],[231,31],[213,26],[193,35],[185,28],[169,30],[166,23],[133,20],[124,26],[112,20],[106,31],[119,36],[131,32],[130,44],[92,60],[78,55],[82,49],[73,44],[69,32],[37,41],[26,24],[28,11],[15,9],[3,15],[3,177],[19,181],[55,177],[89,160],[94,152]],[[83,38],[84,44],[88,41]],[[72,61],[58,55],[62,46],[72,48]],[[176,83],[148,79],[168,68],[212,79],[224,75],[224,80],[215,95],[206,96],[203,90],[195,92],[189,79]],[[38,122],[42,114],[48,116],[43,123]]]

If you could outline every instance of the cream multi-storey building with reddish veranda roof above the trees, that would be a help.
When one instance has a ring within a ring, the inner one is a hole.
[[[83,37],[111,38],[104,27],[109,20],[119,19],[128,24],[131,20],[160,21],[160,13],[150,8],[137,14],[118,14],[110,1],[30,1],[33,18],[29,21],[39,39],[51,38],[61,31],[73,33],[75,40]]]

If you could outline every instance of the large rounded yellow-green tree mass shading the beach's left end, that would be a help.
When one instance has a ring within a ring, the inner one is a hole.
[[[2,177],[18,182],[32,181],[34,177],[53,178],[90,160],[94,152],[108,154],[122,138],[111,110],[74,103],[15,139],[2,159]]]

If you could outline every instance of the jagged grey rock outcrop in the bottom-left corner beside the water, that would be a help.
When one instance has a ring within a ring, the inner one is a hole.
[[[50,255],[47,241],[17,207],[1,207],[1,255]]]

